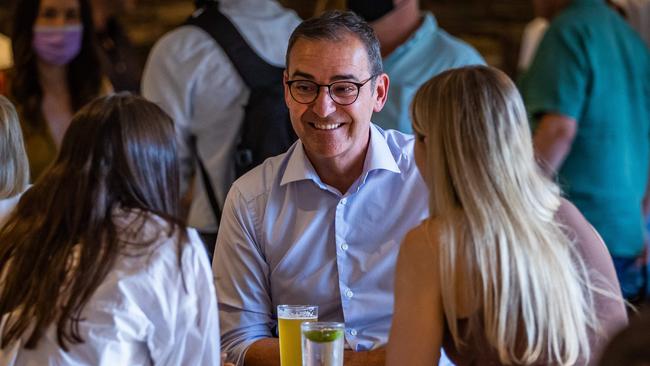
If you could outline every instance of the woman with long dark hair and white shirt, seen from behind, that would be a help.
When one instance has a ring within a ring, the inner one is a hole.
[[[178,217],[171,119],[130,95],[77,113],[0,229],[0,364],[218,365],[212,272]]]

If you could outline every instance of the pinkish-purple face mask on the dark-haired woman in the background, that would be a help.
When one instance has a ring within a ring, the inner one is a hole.
[[[50,65],[66,65],[81,50],[83,26],[34,26],[32,46],[41,61]]]

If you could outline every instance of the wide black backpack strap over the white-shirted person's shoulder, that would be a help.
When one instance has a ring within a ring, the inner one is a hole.
[[[195,11],[186,24],[197,26],[214,38],[250,89],[282,82],[284,68],[270,65],[258,56],[230,19],[219,11],[216,1]]]

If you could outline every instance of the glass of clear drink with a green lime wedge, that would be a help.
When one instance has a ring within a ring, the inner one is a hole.
[[[302,366],[343,366],[343,323],[304,322],[300,329]]]

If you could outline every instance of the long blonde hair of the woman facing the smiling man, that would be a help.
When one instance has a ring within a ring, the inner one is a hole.
[[[559,189],[535,163],[512,81],[489,67],[449,70],[418,91],[412,110],[427,138],[423,175],[441,223],[440,286],[456,346],[464,291],[479,306],[467,334],[482,334],[502,363],[588,359],[598,324],[589,277],[555,219]]]

